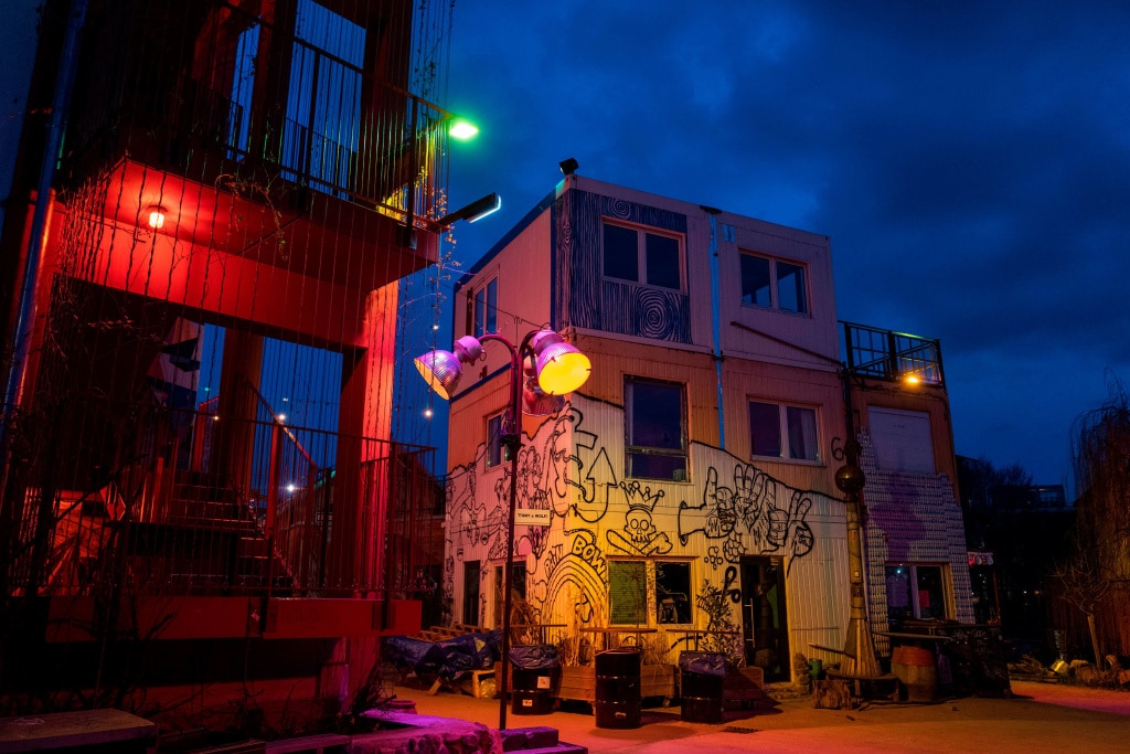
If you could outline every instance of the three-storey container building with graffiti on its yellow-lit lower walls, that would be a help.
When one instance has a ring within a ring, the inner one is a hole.
[[[592,369],[559,410],[522,419],[507,557],[513,367],[489,341],[464,367],[449,444],[457,617],[501,625],[510,562],[514,623],[562,625],[582,657],[610,627],[646,629],[661,653],[729,629],[767,679],[790,678],[797,652],[838,660],[846,397],[872,627],[972,622],[939,345],[837,322],[826,236],[573,173],[470,272],[457,338],[548,326]]]

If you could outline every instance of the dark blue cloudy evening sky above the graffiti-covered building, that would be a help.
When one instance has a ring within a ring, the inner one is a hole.
[[[457,2],[451,203],[504,206],[455,254],[570,156],[826,234],[840,319],[941,339],[957,452],[1067,483],[1130,380],[1128,38],[1124,1]]]

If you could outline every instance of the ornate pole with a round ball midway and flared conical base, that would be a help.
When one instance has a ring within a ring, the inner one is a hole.
[[[847,442],[844,443],[844,465],[836,470],[836,486],[844,493],[847,521],[847,570],[851,584],[851,612],[847,636],[844,640],[845,675],[877,678],[883,675],[875,655],[875,640],[867,615],[867,589],[863,583],[863,526],[860,493],[867,479],[859,466],[859,439],[855,435],[855,410],[851,399],[851,372],[840,370],[844,393],[844,419]]]

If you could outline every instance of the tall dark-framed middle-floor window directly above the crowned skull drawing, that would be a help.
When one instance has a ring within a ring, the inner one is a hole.
[[[684,404],[681,384],[625,380],[627,476],[687,480]]]

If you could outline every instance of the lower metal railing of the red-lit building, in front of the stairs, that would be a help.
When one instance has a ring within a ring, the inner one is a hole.
[[[145,417],[149,452],[88,491],[27,487],[12,593],[412,596],[431,449],[202,409]]]

